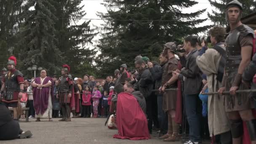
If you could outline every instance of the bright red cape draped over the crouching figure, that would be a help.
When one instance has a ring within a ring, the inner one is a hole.
[[[114,135],[114,138],[131,140],[150,139],[147,118],[132,94],[118,94],[116,115],[118,134]]]

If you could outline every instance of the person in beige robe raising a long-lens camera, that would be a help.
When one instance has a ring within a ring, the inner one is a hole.
[[[214,26],[209,31],[210,41],[213,48],[205,51],[202,56],[197,57],[197,65],[207,75],[208,91],[214,92],[221,87],[226,63],[225,35],[226,29],[221,26]],[[211,65],[211,67],[209,67]],[[206,88],[205,86],[205,88]],[[224,109],[224,97],[218,95],[208,96],[208,125],[210,136],[219,135],[221,144],[232,144],[229,122]]]

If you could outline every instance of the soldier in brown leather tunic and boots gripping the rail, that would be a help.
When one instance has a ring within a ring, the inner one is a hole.
[[[167,88],[177,88],[178,77],[173,78],[173,71],[181,70],[179,59],[175,57],[176,44],[173,42],[164,45],[164,52],[160,61],[163,64],[163,74],[161,83],[161,92],[163,92],[163,110],[168,114],[168,132],[161,136],[163,141],[179,141],[179,124],[175,121],[176,105],[177,105],[177,91],[165,91]],[[163,61],[165,62],[163,62]],[[174,116],[173,116],[174,114]]]

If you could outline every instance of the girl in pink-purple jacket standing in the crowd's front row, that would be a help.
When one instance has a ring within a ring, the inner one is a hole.
[[[94,91],[92,93],[91,98],[93,99],[93,117],[98,117],[98,106],[99,106],[99,99],[101,99],[101,92],[98,90],[99,86],[94,86]]]

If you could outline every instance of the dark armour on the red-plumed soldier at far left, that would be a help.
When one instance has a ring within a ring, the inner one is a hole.
[[[23,74],[19,70],[16,70],[15,72],[11,73],[10,76],[8,76],[8,72],[5,73],[5,100],[13,100],[13,92],[20,91],[19,83],[17,81],[18,76],[23,77]]]

